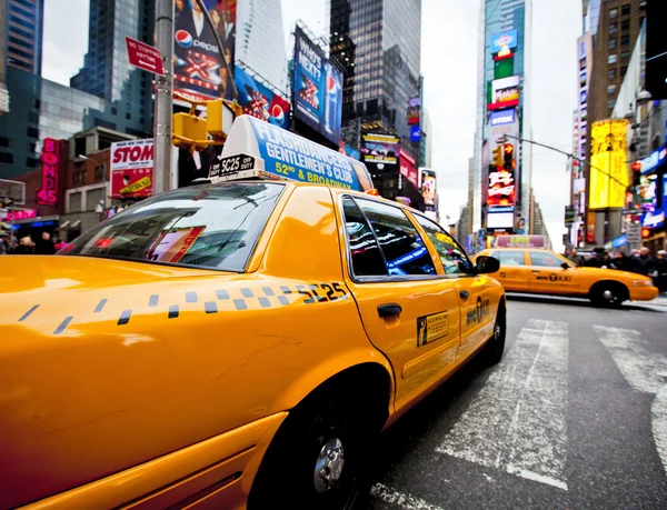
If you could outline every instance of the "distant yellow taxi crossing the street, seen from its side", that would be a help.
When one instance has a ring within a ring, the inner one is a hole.
[[[595,304],[609,307],[658,297],[650,278],[614,269],[578,268],[547,249],[491,248],[480,256],[500,261],[500,269],[492,276],[507,291],[588,298]]]

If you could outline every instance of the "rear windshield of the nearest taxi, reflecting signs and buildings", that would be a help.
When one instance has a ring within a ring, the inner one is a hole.
[[[162,193],[98,224],[59,254],[241,272],[283,189],[236,182]]]

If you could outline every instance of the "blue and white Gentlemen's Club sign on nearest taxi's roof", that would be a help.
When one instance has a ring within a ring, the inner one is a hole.
[[[209,176],[220,180],[265,177],[357,191],[372,189],[362,162],[250,116],[235,120],[221,158],[213,161]]]

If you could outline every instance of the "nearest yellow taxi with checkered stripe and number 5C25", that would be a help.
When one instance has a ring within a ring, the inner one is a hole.
[[[497,260],[331,186],[182,188],[2,263],[1,509],[349,509],[374,438],[505,344]]]

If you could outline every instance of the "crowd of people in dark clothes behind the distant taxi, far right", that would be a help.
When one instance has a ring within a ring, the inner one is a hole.
[[[585,258],[573,248],[566,250],[565,257],[580,268],[617,269],[651,277],[659,291],[667,292],[667,252],[665,250],[659,250],[655,257],[646,247],[633,250],[629,256],[623,251],[613,253],[594,251],[590,258]]]

